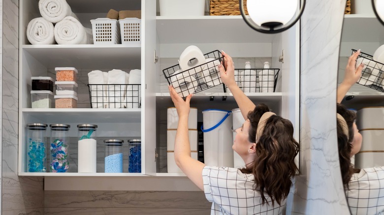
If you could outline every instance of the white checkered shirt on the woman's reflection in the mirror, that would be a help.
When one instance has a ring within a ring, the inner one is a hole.
[[[384,215],[384,166],[353,174],[345,193],[352,215]]]

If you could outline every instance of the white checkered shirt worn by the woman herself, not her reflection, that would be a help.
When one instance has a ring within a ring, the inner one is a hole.
[[[205,197],[212,202],[211,215],[280,215],[285,211],[286,198],[282,206],[275,202],[273,207],[265,193],[267,202],[261,204],[253,174],[230,167],[204,166],[202,175]]]

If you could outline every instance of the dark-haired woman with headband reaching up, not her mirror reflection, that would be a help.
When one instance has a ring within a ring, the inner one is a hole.
[[[293,138],[293,126],[289,120],[270,112],[267,106],[253,104],[234,80],[232,58],[224,52],[223,55],[227,70],[219,65],[221,78],[247,119],[236,129],[232,146],[246,167],[206,166],[191,158],[188,115],[192,95],[184,101],[169,86],[179,115],[175,161],[188,178],[204,190],[208,201],[213,202],[211,214],[282,214],[291,179],[298,170],[294,162],[298,143]]]

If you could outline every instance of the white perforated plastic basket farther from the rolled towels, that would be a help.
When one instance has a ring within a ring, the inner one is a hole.
[[[119,20],[122,44],[138,44],[141,42],[141,19],[125,18]]]

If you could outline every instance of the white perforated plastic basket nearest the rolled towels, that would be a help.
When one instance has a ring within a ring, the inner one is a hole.
[[[91,20],[94,44],[120,44],[120,26],[117,20],[97,18]]]

